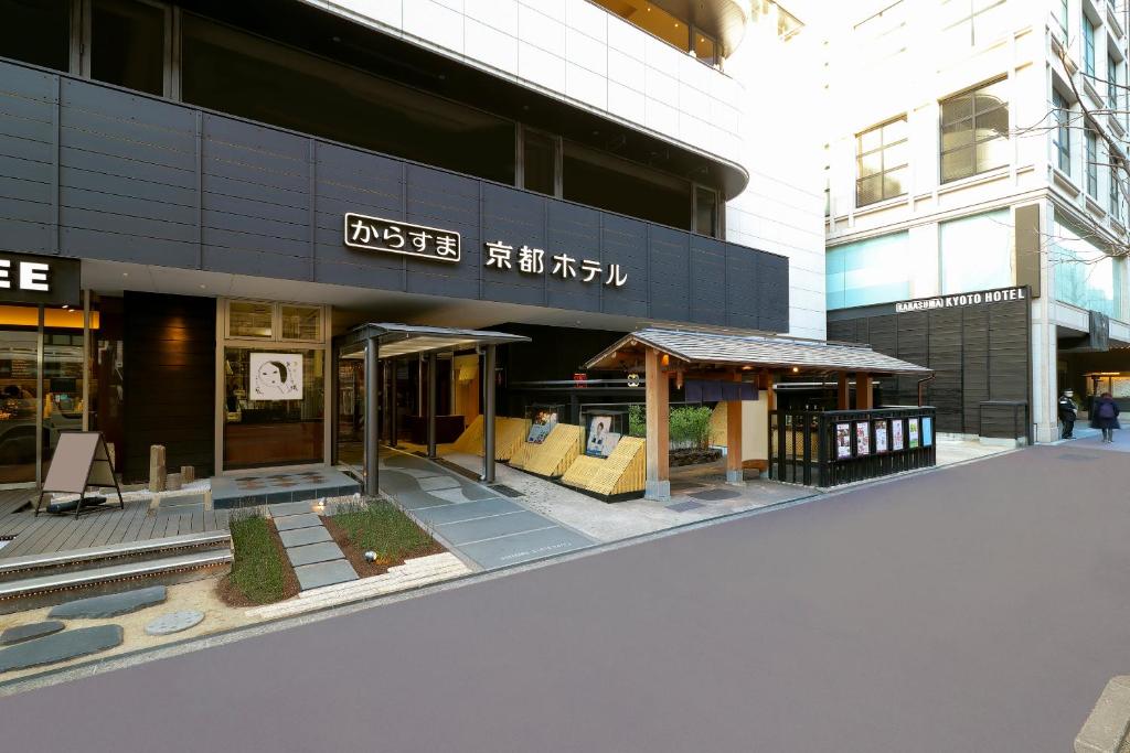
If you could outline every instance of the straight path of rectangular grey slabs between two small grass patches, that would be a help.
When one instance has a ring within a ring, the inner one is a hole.
[[[302,590],[357,579],[357,571],[322,525],[322,519],[312,511],[313,502],[268,505],[267,509]]]

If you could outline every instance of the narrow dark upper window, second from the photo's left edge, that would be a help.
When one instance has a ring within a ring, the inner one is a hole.
[[[90,78],[165,93],[165,9],[132,0],[94,0]]]

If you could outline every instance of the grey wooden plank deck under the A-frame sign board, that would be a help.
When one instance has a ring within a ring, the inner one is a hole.
[[[97,513],[45,515],[34,517],[31,510],[16,513],[29,498],[32,489],[0,491],[0,539],[15,536],[0,548],[0,559],[62,552],[104,544],[146,541],[186,533],[226,531],[227,510],[203,510],[200,506],[149,513],[149,501],[127,501],[125,509],[116,506]]]

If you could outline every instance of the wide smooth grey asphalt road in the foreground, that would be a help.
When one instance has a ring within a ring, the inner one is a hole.
[[[23,693],[0,750],[1063,753],[1130,672],[1128,461],[1026,449]]]

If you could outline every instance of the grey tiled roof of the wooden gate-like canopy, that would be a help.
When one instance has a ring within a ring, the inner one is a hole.
[[[831,344],[764,335],[694,330],[640,330],[625,335],[585,368],[616,368],[614,354],[634,345],[652,347],[687,364],[740,365],[868,374],[931,374],[932,370],[877,353],[867,345]]]

